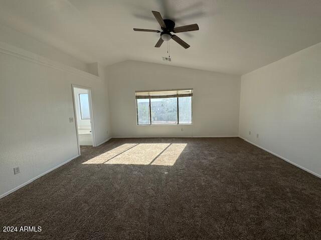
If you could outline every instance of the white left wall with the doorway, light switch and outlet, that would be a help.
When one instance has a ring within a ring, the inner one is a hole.
[[[78,155],[71,84],[92,88],[96,144],[109,134],[101,78],[0,42],[0,197]],[[21,173],[14,175],[19,166]]]

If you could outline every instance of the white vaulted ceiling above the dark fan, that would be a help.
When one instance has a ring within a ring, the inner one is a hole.
[[[151,10],[200,30],[177,33],[191,45],[154,45]],[[321,42],[321,0],[0,0],[0,21],[82,59],[126,59],[242,74]]]

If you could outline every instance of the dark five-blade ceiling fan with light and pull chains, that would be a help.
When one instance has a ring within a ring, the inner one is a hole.
[[[179,43],[184,48],[189,48],[190,45],[183,41],[177,35],[172,34],[171,32],[183,32],[183,31],[195,31],[199,29],[198,24],[191,24],[185,26],[175,27],[175,22],[171,19],[163,19],[161,13],[158,11],[151,11],[154,14],[154,17],[158,21],[159,25],[161,25],[162,31],[160,30],[152,30],[152,29],[142,29],[142,28],[134,28],[134,31],[151,31],[151,32],[161,32],[161,37],[157,41],[155,47],[160,47],[164,41],[168,41],[171,38]]]

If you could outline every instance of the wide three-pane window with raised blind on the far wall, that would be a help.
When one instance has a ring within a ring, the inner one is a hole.
[[[192,124],[193,89],[136,91],[138,125]]]

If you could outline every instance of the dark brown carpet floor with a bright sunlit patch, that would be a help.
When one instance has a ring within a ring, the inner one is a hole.
[[[321,239],[321,179],[240,138],[111,139],[0,199],[0,239]]]

